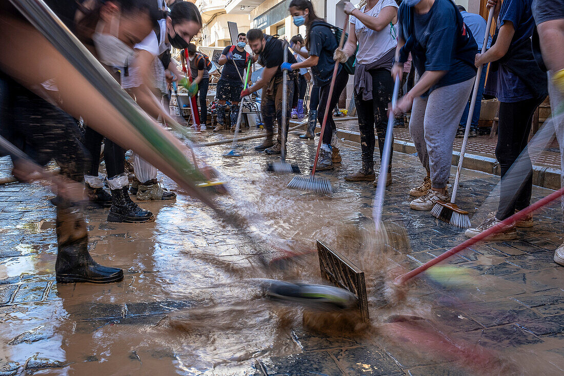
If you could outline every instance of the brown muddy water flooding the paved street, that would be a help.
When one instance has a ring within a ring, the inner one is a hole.
[[[313,144],[295,141],[292,136],[290,140],[288,160],[307,173]],[[0,278],[23,274],[29,283],[37,284],[43,298],[0,308],[2,361],[27,362],[28,367],[34,361],[43,362],[51,365],[50,374],[252,374],[254,360],[301,352],[299,333],[303,331],[377,341],[384,347],[403,346],[409,356],[415,351],[437,361],[453,360],[454,356],[444,355],[451,349],[444,351],[440,347],[444,341],[436,335],[430,312],[439,302],[429,297],[431,291],[422,283],[410,290],[394,290],[389,283],[382,288],[381,282],[398,273],[398,262],[402,263],[402,256],[411,250],[402,245],[384,253],[374,245],[372,186],[350,185],[336,178],[358,166],[349,166],[348,171],[338,168],[335,174],[320,173],[332,180],[332,197],[304,194],[285,187],[291,176],[264,172],[266,162],[275,158],[250,151],[254,143],[243,143],[248,149],[237,159],[219,157],[228,146],[201,150],[228,181],[231,196],[218,196],[219,206],[246,217],[250,237],[182,195],[175,203],[142,203],[156,215],[152,224],[108,224],[107,212],[88,212],[92,253],[100,263],[124,268],[124,282],[107,286],[52,283],[56,258],[52,209],[3,229],[3,234],[21,235],[24,251],[23,256],[0,266]],[[355,149],[343,147],[343,159],[356,160],[355,153]],[[402,165],[402,159],[411,157],[395,158]],[[399,178],[417,181],[420,172],[408,163],[405,166],[404,176]],[[173,182],[167,178],[164,182],[174,189]],[[398,200],[399,196],[405,202]],[[399,186],[390,190],[390,197],[396,205],[407,203]],[[38,207],[45,207],[45,202],[39,202]],[[386,207],[384,220],[400,223],[402,219],[393,205]],[[425,226],[416,221],[411,225]],[[367,273],[371,326],[358,325],[348,314],[318,312],[306,312],[302,323],[303,308],[265,300],[249,282],[257,277],[320,282],[315,254],[299,257],[286,270],[265,270],[257,257],[257,252],[265,249],[271,250],[269,257],[280,256],[277,248],[314,250],[315,239],[334,244]],[[412,239],[411,246],[418,245]],[[45,290],[43,286],[47,286]],[[491,281],[479,279],[479,286],[487,293]],[[464,292],[470,301],[478,294],[475,286],[457,288],[457,294]],[[394,315],[424,320],[411,326],[388,322]],[[314,319],[308,320],[312,316]],[[448,327],[441,330],[446,335],[456,331]],[[456,335],[452,338],[458,339]],[[406,346],[417,343],[416,339],[419,348],[438,344],[435,351]],[[505,359],[506,355],[496,352],[492,358]],[[509,361],[513,364],[517,360]],[[470,373],[488,373],[485,368],[473,367],[469,360],[460,363]],[[495,373],[513,373],[511,370],[496,369]]]

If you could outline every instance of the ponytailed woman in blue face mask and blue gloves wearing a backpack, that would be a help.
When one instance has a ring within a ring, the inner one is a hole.
[[[349,81],[349,74],[340,64],[333,94],[331,98],[328,98],[333,67],[335,65],[333,53],[337,49],[339,41],[337,41],[337,38],[331,30],[332,26],[315,14],[314,7],[309,0],[292,0],[292,2],[290,2],[289,11],[293,16],[296,26],[306,25],[307,34],[305,47],[309,51],[309,58],[301,63],[283,64],[282,68],[311,68],[314,83],[316,86],[319,86],[317,116],[319,123],[322,123],[323,116],[325,115],[325,107],[329,106],[329,111],[331,111],[337,105],[339,97],[345,89],[347,81]],[[325,127],[324,133],[321,135],[321,137],[323,137],[323,145],[321,145],[319,152],[317,170],[332,169],[333,161],[335,163],[341,161],[341,155],[338,153],[338,149],[331,145],[333,132],[336,132],[336,130],[337,127],[330,113],[327,117],[327,126]]]

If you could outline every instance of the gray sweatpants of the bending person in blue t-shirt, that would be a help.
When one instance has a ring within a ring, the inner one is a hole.
[[[434,188],[447,186],[451,173],[452,143],[460,117],[470,97],[474,78],[431,91],[413,99],[409,133]]]

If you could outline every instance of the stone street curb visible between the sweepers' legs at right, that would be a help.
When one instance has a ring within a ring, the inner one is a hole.
[[[318,127],[315,129],[315,132],[319,132],[320,130],[321,128]],[[353,130],[337,128],[337,137],[340,139],[344,138],[346,141],[360,143],[360,133]],[[378,144],[376,143],[376,148],[377,147]],[[415,144],[412,142],[398,140],[394,140],[394,151],[404,154],[415,154],[417,152],[417,150],[415,150]],[[459,158],[460,152],[454,151],[452,153],[452,165],[458,165]],[[466,153],[462,167],[497,176],[501,174],[500,165],[495,158],[480,155]],[[548,189],[560,189],[560,170],[552,167],[533,166],[532,183]]]

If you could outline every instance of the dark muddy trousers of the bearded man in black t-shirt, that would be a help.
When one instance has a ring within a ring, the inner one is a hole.
[[[286,130],[290,124],[290,110],[292,110],[292,98],[294,97],[294,79],[288,79],[288,92],[287,92],[287,107],[286,107]],[[272,93],[267,88],[262,89],[261,99],[261,115],[262,121],[265,123],[267,134],[274,133],[274,120],[278,123],[278,139],[281,140],[281,124],[282,124],[282,79],[276,82],[272,87]]]

